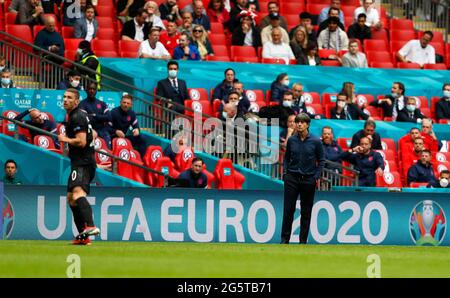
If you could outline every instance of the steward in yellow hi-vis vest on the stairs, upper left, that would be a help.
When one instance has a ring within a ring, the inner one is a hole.
[[[91,69],[91,71],[87,71],[84,69],[79,69],[78,71],[84,77],[89,77],[91,80],[97,82],[98,90],[100,90],[100,82],[101,82],[101,72],[102,67],[100,65],[100,61],[97,56],[91,49],[91,43],[87,40],[80,41],[78,45],[77,53],[75,54],[75,62],[82,64],[83,66]]]

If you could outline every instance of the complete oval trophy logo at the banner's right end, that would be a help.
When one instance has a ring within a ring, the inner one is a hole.
[[[417,204],[409,218],[409,231],[416,245],[439,245],[446,228],[444,210],[432,200]]]

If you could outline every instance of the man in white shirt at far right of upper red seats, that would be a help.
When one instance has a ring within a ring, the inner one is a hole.
[[[424,64],[435,64],[436,54],[432,45],[433,32],[425,31],[422,38],[408,41],[397,52],[397,58],[401,62],[417,63],[423,68]]]

